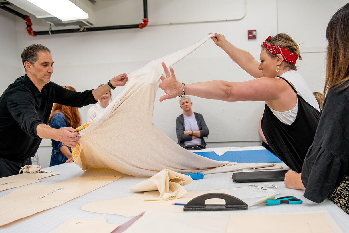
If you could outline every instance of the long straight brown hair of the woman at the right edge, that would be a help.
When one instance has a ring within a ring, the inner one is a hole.
[[[349,80],[349,3],[332,16],[326,29],[327,65],[324,95]],[[340,90],[349,86],[346,85]]]

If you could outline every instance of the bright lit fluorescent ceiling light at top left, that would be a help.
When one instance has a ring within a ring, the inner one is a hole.
[[[28,0],[62,21],[88,19],[88,14],[69,0]]]

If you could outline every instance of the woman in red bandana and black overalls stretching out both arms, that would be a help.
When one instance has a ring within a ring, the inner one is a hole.
[[[321,110],[313,93],[295,66],[298,45],[287,34],[269,36],[261,45],[260,62],[251,53],[229,43],[223,35],[212,37],[228,55],[255,79],[245,82],[208,81],[180,83],[162,63],[166,78],[159,87],[166,95],[195,95],[223,101],[265,101],[262,130],[275,154],[300,173],[306,152],[314,139]]]

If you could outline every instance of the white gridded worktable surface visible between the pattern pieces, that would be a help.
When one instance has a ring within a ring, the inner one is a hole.
[[[209,150],[206,149],[206,150]],[[284,169],[289,169],[284,163],[277,163],[277,165],[283,166]],[[120,175],[120,173],[109,170],[109,169],[88,169],[86,171],[81,170],[81,168],[74,163],[65,163],[50,168],[44,168],[45,170],[53,170],[53,173],[59,173],[59,175],[51,176],[42,179],[42,182],[28,184],[28,185],[47,185],[58,183],[61,181],[73,179],[79,176],[114,176]],[[194,180],[192,183],[184,186],[187,191],[209,191],[209,190],[220,190],[220,189],[230,189],[237,187],[246,187],[247,184],[254,183],[234,183],[232,181],[232,172],[219,173],[219,174],[207,174],[202,180]],[[96,189],[86,195],[77,197],[71,201],[68,201],[60,206],[54,207],[49,210],[45,210],[36,213],[32,216],[14,221],[5,226],[0,226],[0,232],[50,232],[58,227],[62,221],[67,219],[77,219],[77,218],[93,218],[104,216],[107,219],[107,223],[119,223],[123,224],[126,221],[132,219],[132,217],[117,216],[112,214],[100,214],[83,211],[80,207],[84,204],[97,202],[102,200],[114,199],[119,197],[131,196],[134,192],[130,191],[129,188],[133,185],[147,180],[149,177],[133,177],[130,175],[123,175],[119,180],[107,184],[99,189]],[[270,183],[278,187],[276,191],[281,192],[281,196],[295,196],[297,198],[303,199],[302,204],[289,205],[281,204],[274,206],[258,205],[248,208],[244,212],[248,213],[271,213],[271,212],[309,212],[309,211],[320,211],[327,210],[336,223],[341,227],[343,232],[349,233],[349,215],[337,207],[334,203],[326,199],[324,202],[317,204],[309,201],[303,197],[304,191],[302,190],[292,190],[285,187],[283,181],[278,182],[255,182],[255,184]],[[18,187],[20,188],[20,187]],[[12,192],[17,188],[4,190],[0,192],[0,197]],[[249,206],[253,202],[260,198],[249,198],[243,199]],[[239,212],[239,211],[230,211]]]

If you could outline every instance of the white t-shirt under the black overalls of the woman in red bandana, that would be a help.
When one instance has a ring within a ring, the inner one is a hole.
[[[302,75],[298,73],[298,71],[296,70],[286,71],[285,73],[279,76],[289,81],[295,87],[299,96],[301,96],[307,103],[312,105],[315,109],[320,111],[318,101],[315,99],[315,96],[311,92],[310,88],[308,87]],[[277,117],[277,119],[279,119],[281,122],[285,124],[290,125],[295,121],[297,116],[298,100],[295,107],[289,111],[279,112],[279,111],[275,111],[272,108],[270,108],[270,110],[272,110],[272,112]]]

